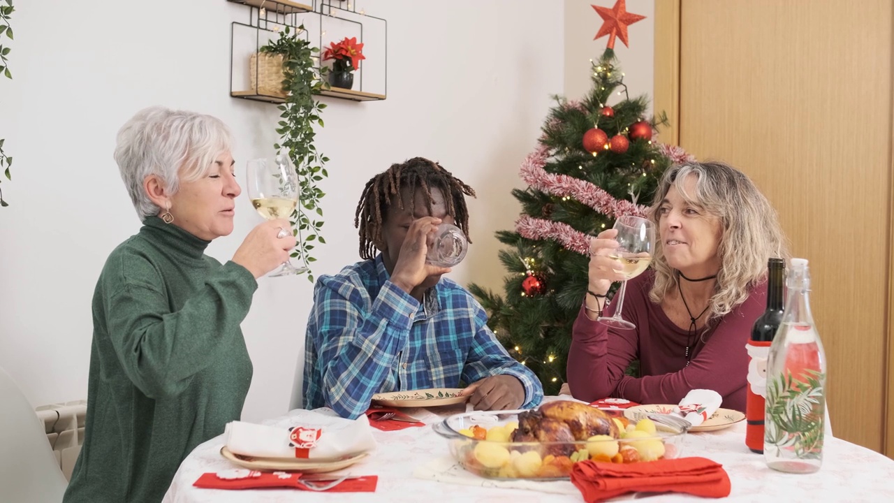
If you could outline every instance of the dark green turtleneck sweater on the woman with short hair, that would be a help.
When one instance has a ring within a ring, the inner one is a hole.
[[[208,243],[148,217],[105,261],[64,502],[161,501],[190,451],[240,418],[252,368],[239,326],[257,283]]]

